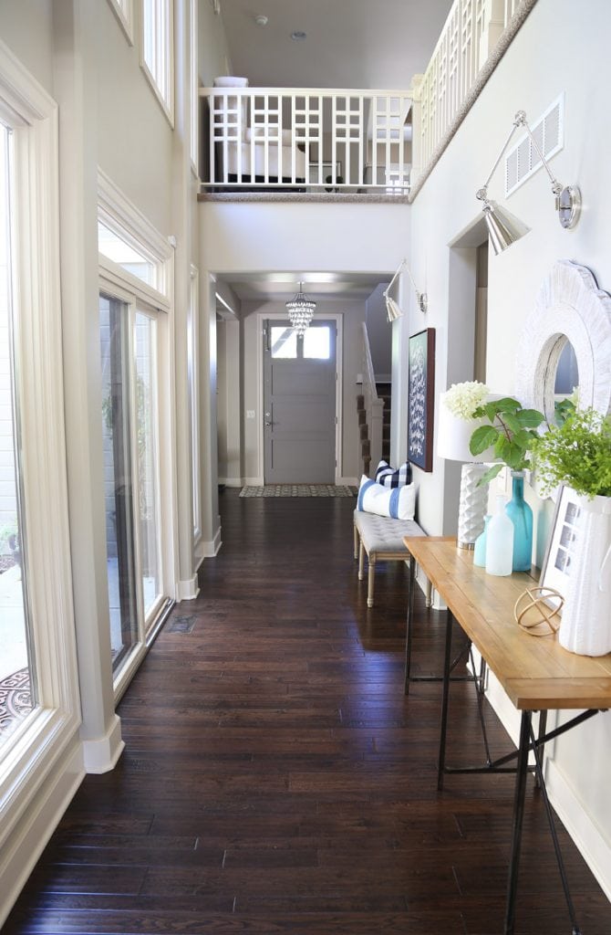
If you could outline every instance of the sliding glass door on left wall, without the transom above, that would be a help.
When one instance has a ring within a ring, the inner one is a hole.
[[[157,322],[100,295],[108,600],[117,676],[163,606]]]

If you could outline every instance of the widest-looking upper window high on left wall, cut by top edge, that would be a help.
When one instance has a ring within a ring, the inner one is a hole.
[[[173,0],[142,0],[142,67],[169,121],[174,121]]]

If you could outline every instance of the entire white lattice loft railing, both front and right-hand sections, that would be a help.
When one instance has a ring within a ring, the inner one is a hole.
[[[201,88],[201,196],[412,200],[536,0],[454,0],[406,91]]]

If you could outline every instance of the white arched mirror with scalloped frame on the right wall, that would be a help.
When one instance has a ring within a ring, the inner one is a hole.
[[[577,388],[579,408],[609,411],[611,296],[598,288],[586,266],[559,260],[524,325],[516,396],[523,406],[544,412],[551,423],[559,398]]]

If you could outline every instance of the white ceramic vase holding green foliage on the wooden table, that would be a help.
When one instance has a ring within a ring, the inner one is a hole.
[[[611,653],[611,496],[579,497],[568,593],[558,632],[579,655]]]

